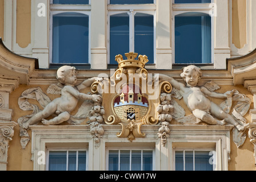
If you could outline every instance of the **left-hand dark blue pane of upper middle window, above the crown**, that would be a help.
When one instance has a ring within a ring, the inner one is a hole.
[[[110,16],[110,64],[118,64],[115,56],[129,52],[129,15]]]

